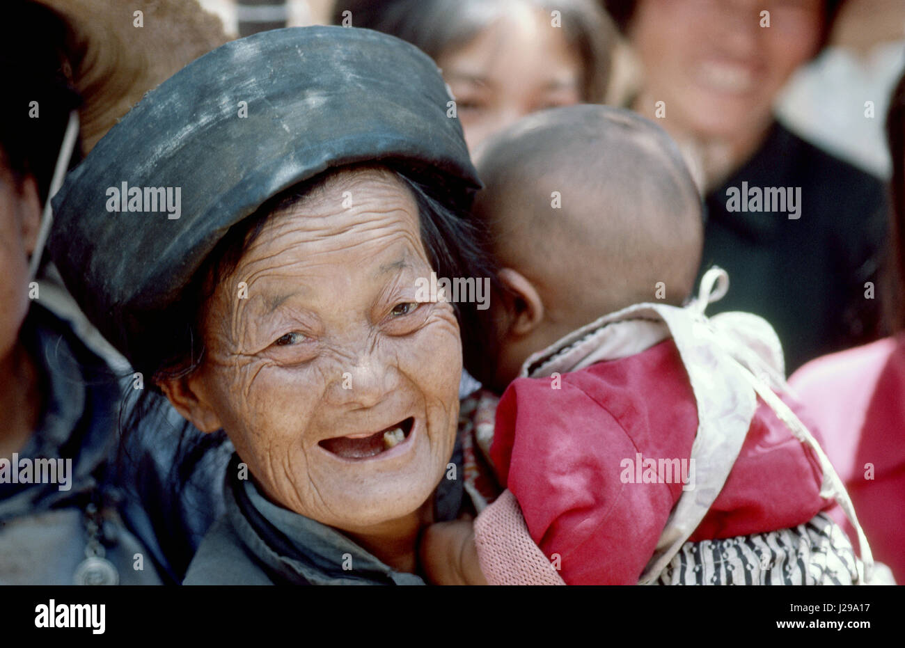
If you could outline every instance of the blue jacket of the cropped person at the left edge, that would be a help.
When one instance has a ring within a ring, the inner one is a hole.
[[[159,584],[147,548],[121,516],[122,492],[110,471],[119,380],[68,322],[37,301],[21,335],[38,367],[44,402],[38,428],[17,453],[18,461],[69,459],[71,482],[61,484],[57,473],[52,483],[0,483],[0,584],[72,585],[87,557],[90,521],[99,526],[94,538],[120,585]],[[92,504],[98,514],[89,521]],[[135,568],[139,565],[142,569]]]

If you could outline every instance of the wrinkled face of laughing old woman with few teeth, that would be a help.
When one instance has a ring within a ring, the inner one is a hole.
[[[430,272],[409,190],[347,170],[272,215],[218,285],[193,386],[271,500],[354,531],[431,496],[462,345],[449,303],[415,301]]]

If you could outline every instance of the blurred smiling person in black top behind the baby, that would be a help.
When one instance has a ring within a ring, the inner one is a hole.
[[[881,180],[774,116],[786,81],[826,42],[839,0],[605,4],[643,68],[633,108],[699,162],[709,214],[701,272],[716,264],[732,281],[717,310],[770,321],[787,371],[877,338]]]

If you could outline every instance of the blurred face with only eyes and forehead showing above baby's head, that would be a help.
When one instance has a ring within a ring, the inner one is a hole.
[[[581,100],[582,64],[548,14],[521,3],[437,65],[456,99],[465,141],[483,139],[536,110]]]

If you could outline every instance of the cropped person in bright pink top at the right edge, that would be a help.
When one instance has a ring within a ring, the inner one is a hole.
[[[874,556],[905,583],[905,76],[886,121],[892,158],[888,264],[894,334],[821,357],[789,381],[820,425]],[[853,529],[846,525],[849,537]]]

